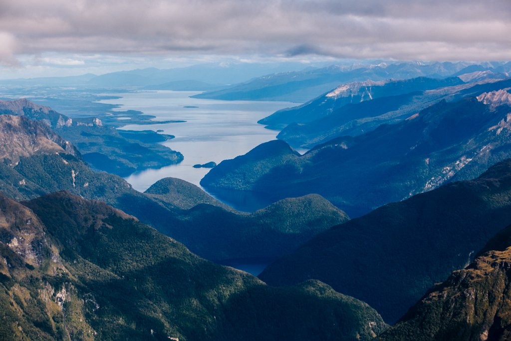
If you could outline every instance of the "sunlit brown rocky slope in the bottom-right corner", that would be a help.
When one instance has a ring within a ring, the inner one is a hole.
[[[510,240],[508,227],[498,236]],[[511,247],[480,253],[436,284],[378,340],[504,341],[511,338]],[[489,246],[489,245],[487,245]]]

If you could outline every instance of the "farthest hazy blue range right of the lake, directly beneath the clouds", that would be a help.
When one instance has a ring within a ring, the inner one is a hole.
[[[401,62],[377,65],[331,65],[315,70],[266,75],[225,89],[205,92],[196,98],[220,100],[272,100],[304,103],[341,84],[415,77],[446,78],[471,74],[469,79],[509,77],[511,63]],[[482,74],[486,72],[486,74]],[[476,74],[474,74],[476,73]]]

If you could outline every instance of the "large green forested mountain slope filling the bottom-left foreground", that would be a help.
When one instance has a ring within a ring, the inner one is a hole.
[[[103,202],[24,204],[0,194],[2,339],[368,340],[386,327],[323,283],[268,287]]]

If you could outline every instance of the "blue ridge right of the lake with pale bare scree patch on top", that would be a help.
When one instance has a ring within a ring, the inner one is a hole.
[[[359,135],[381,124],[397,123],[440,100],[478,96],[511,85],[509,79],[463,83],[460,78],[413,78],[344,84],[304,105],[277,111],[259,121],[284,127],[277,138],[295,148],[312,148],[343,135]]]

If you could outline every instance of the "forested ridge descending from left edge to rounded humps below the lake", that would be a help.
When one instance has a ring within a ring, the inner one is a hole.
[[[27,131],[37,131],[33,127],[49,130],[27,118],[14,119],[26,121],[26,125],[20,126],[19,131],[12,130],[0,120],[0,132],[10,134],[14,141],[32,136]],[[35,135],[37,139],[45,136]],[[64,145],[74,150],[71,144]],[[0,145],[0,154],[7,155],[9,148],[9,144]],[[20,149],[21,154],[28,156],[20,156],[17,163],[8,158],[0,162],[0,191],[9,197],[26,200],[67,190],[87,199],[102,200],[213,260],[278,258],[347,219],[342,211],[319,196],[284,200],[258,215],[247,215],[211,206],[210,203],[218,201],[182,180],[158,181],[152,187],[153,194],[143,194],[118,176],[92,171],[63,149],[57,153],[53,147],[37,152],[26,148]],[[202,204],[197,206],[199,203]]]

